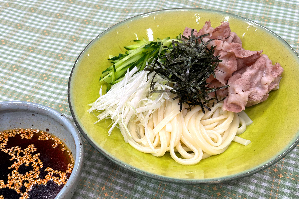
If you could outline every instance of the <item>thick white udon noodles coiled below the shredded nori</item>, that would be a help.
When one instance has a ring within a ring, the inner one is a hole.
[[[135,149],[154,156],[170,152],[171,157],[183,165],[197,164],[200,160],[224,152],[232,141],[248,145],[236,135],[246,130],[252,121],[242,112],[222,111],[223,103],[217,103],[211,110],[202,112],[200,106],[180,112],[178,100],[164,104],[150,113],[147,122],[141,122],[142,113],[136,114],[128,124],[132,138],[128,142]],[[246,121],[245,121],[246,120]],[[178,152],[181,157],[176,154]]]

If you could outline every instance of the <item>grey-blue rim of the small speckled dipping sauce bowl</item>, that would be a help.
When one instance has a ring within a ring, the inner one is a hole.
[[[76,160],[74,162],[74,168],[71,172],[68,181],[65,183],[63,188],[58,192],[54,199],[64,198],[64,192],[68,189],[69,192],[74,193],[71,189],[73,189],[73,185],[77,187],[79,183],[79,178],[81,177],[81,173],[83,170],[84,164],[84,147],[83,141],[81,139],[80,133],[77,130],[76,126],[62,113],[44,106],[42,104],[37,104],[33,102],[24,102],[24,101],[3,101],[0,102],[0,112],[2,111],[33,111],[40,112],[43,115],[48,116],[49,118],[54,118],[59,123],[63,124],[63,126],[67,129],[67,131],[74,138],[75,148],[76,148]],[[67,193],[65,193],[67,194]]]

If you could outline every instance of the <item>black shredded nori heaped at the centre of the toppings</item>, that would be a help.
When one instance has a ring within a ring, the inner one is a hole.
[[[218,101],[216,90],[227,88],[229,85],[210,88],[206,82],[210,75],[216,77],[214,70],[217,70],[219,56],[214,56],[215,47],[208,48],[208,44],[213,39],[207,42],[203,41],[203,37],[209,34],[201,36],[194,36],[193,29],[191,30],[191,36],[188,38],[181,36],[183,39],[179,41],[172,41],[172,47],[165,47],[169,49],[170,53],[165,53],[163,56],[158,57],[163,60],[164,63],[160,63],[158,58],[153,64],[147,65],[144,70],[149,70],[151,74],[155,72],[162,78],[169,82],[176,82],[171,90],[154,90],[155,82],[151,82],[151,92],[171,92],[177,94],[173,99],[179,98],[180,111],[182,105],[188,104],[189,108],[199,105],[202,108],[202,112],[205,112],[204,108],[210,111],[210,108],[206,104],[210,104],[213,100],[213,105],[220,102]],[[164,61],[165,60],[165,61]],[[153,78],[154,79],[154,78]],[[214,92],[215,97],[209,98],[209,93]],[[224,98],[222,99],[224,100]],[[221,101],[222,101],[221,100]]]

